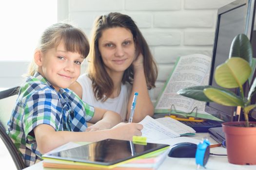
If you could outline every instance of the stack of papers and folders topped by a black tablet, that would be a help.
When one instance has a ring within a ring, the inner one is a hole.
[[[156,170],[169,145],[106,139],[95,143],[69,142],[42,155],[44,168],[83,170]]]

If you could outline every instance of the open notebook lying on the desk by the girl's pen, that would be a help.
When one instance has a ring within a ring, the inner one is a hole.
[[[196,134],[193,128],[170,117],[153,119],[146,116],[139,123],[143,125],[141,132],[143,137],[147,137],[147,142]]]

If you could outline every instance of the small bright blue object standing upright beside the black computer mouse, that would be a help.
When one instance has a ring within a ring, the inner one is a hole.
[[[207,138],[204,138],[203,141],[197,144],[197,151],[196,151],[197,170],[200,168],[200,166],[205,168],[205,165],[208,162],[209,156],[210,156],[210,142]]]

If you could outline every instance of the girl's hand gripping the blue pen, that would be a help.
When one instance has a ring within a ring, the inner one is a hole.
[[[111,136],[114,139],[120,140],[133,140],[133,136],[141,136],[140,132],[143,129],[143,125],[138,123],[119,123],[111,130]]]

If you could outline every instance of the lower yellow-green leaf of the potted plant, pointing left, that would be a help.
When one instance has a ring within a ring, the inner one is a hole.
[[[220,88],[205,88],[203,90],[205,96],[218,104],[226,106],[243,106],[244,102],[241,97],[226,89]]]

